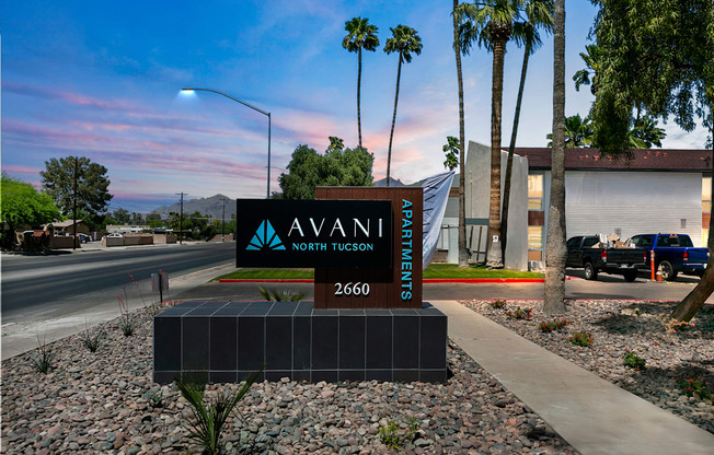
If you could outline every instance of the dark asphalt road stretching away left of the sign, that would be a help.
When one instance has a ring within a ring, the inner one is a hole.
[[[2,256],[2,324],[91,308],[97,301],[120,294],[151,299],[151,273],[170,278],[233,262],[234,243],[197,243],[146,247],[85,246],[73,254]],[[139,283],[140,291],[129,275]],[[171,290],[164,295],[173,298]]]

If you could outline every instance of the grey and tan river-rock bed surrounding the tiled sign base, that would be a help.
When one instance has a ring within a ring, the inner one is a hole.
[[[137,315],[131,337],[122,335],[118,319],[102,325],[106,337],[96,352],[82,345],[81,335],[50,345],[57,357],[48,374],[30,366],[36,351],[2,362],[1,452],[199,453],[186,439],[187,402],[175,386],[151,381],[150,316]],[[711,346],[709,352],[711,359]],[[414,418],[419,430],[400,452],[577,453],[453,343],[448,359],[453,375],[446,384],[254,384],[239,405],[244,421],[228,423],[226,452],[394,453],[379,430],[393,420],[404,440]],[[207,396],[237,389],[211,385]]]

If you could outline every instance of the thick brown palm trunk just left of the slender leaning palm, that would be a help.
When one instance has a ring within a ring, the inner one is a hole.
[[[504,94],[504,55],[506,42],[494,43],[493,81],[491,84],[491,206],[488,208],[488,256],[486,267],[504,267],[500,249],[500,110]]]

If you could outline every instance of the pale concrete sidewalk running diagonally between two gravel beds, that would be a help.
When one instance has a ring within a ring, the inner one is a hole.
[[[456,301],[430,303],[449,316],[449,337],[581,454],[714,454],[714,434]]]

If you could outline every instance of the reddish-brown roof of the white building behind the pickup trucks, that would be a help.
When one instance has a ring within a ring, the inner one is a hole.
[[[536,171],[551,168],[550,147],[517,147],[515,153],[528,159],[528,166]],[[712,171],[711,150],[649,149],[634,150],[634,158],[613,159],[601,156],[599,149],[565,149],[567,171]]]

